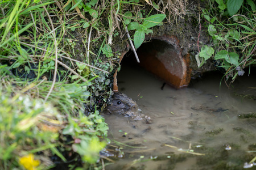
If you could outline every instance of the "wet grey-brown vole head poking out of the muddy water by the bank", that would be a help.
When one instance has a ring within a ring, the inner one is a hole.
[[[110,114],[133,116],[134,113],[141,111],[141,109],[139,109],[137,103],[130,97],[121,92],[114,92],[112,103],[106,107],[106,111]]]

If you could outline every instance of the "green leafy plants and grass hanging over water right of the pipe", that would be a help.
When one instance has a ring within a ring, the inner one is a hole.
[[[199,67],[207,59],[214,59],[215,65],[225,70],[225,78],[233,82],[245,74],[245,67],[256,63],[256,18],[252,12],[254,2],[240,1],[241,8],[230,6],[231,2],[234,1],[209,1],[209,6],[202,10],[200,24],[207,28],[212,43],[203,45],[196,59]]]

